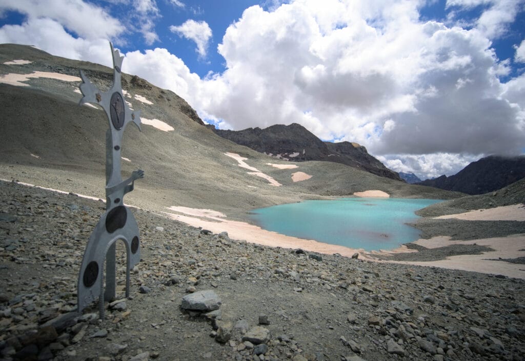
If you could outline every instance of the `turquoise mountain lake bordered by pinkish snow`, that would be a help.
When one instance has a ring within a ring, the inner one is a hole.
[[[419,217],[417,209],[438,199],[341,198],[307,200],[251,211],[261,228],[283,235],[367,251],[390,250],[419,238],[419,230],[406,225]]]

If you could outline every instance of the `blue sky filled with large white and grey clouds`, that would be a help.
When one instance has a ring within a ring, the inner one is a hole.
[[[525,148],[525,0],[3,0],[0,43],[111,65],[224,129],[304,125],[395,171]]]

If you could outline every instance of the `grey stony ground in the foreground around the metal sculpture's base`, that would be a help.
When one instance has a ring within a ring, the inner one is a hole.
[[[121,296],[105,320],[77,314],[104,210],[0,182],[0,359],[525,359],[523,280],[261,247],[140,209],[132,297],[119,242]]]

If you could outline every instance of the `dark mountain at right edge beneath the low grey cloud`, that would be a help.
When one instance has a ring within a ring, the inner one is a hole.
[[[491,155],[472,162],[455,175],[442,175],[417,183],[466,194],[484,194],[525,177],[525,156]]]

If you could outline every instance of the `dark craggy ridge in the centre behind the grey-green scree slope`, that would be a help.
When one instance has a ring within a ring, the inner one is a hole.
[[[396,172],[371,156],[364,146],[350,142],[323,142],[297,123],[240,131],[215,129],[213,125],[208,125],[208,128],[232,142],[283,160],[341,163],[381,177],[402,180]]]

